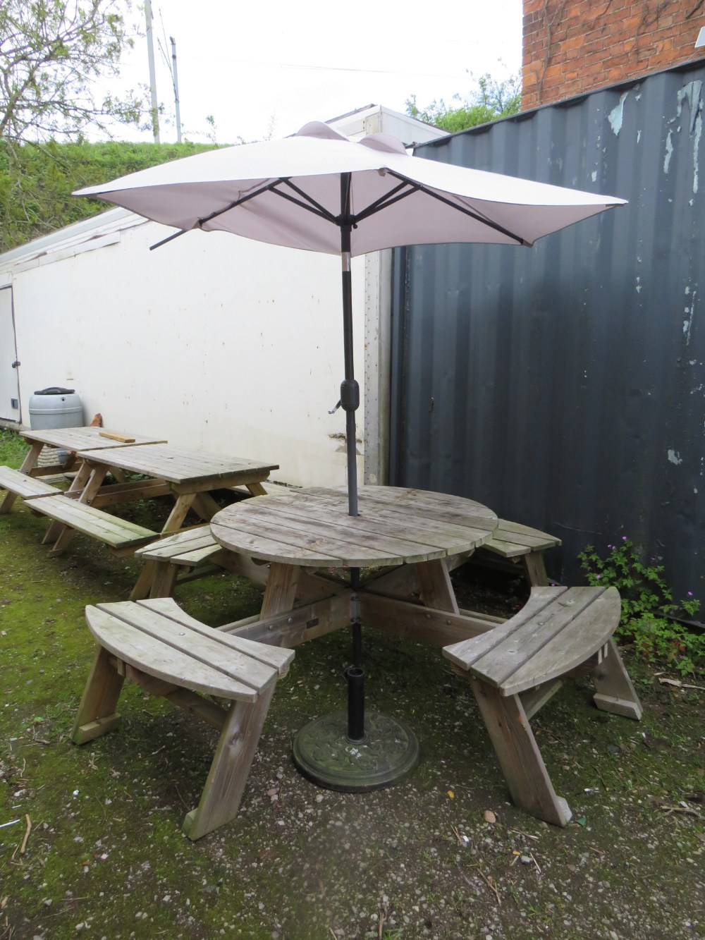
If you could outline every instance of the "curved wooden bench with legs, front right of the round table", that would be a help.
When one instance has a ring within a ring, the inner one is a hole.
[[[514,803],[548,823],[565,825],[572,813],[556,796],[528,722],[563,678],[591,672],[598,708],[641,718],[612,639],[619,615],[616,587],[533,587],[515,617],[443,650],[472,684]]]

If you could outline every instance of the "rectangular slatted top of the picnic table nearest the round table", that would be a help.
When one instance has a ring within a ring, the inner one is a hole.
[[[103,463],[118,467],[127,473],[144,474],[147,477],[164,479],[170,483],[194,483],[204,480],[231,480],[239,476],[268,474],[278,469],[278,463],[249,461],[242,457],[225,454],[210,454],[205,450],[179,447],[171,444],[133,444],[122,446],[118,451],[103,453],[101,450],[79,452],[79,457],[88,463]]]

